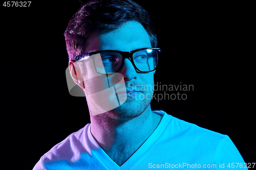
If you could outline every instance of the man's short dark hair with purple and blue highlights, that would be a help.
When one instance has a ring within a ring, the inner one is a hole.
[[[141,23],[152,47],[157,47],[150,16],[137,3],[131,0],[92,0],[82,4],[64,33],[69,60],[81,54],[90,36],[113,31],[132,20]]]

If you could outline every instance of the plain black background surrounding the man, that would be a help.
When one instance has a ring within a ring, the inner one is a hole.
[[[152,110],[227,134],[244,161],[255,162],[251,5],[139,4],[151,14],[163,50],[155,83],[194,85],[194,91],[180,92],[187,94],[186,100],[153,101]],[[80,5],[1,4],[0,139],[11,166],[32,169],[55,144],[90,123],[86,99],[69,94],[65,76],[63,33]]]

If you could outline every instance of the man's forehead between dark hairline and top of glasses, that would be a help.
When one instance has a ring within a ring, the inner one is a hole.
[[[100,50],[132,51],[151,47],[150,38],[137,21],[126,22],[124,26],[89,40],[86,53]]]

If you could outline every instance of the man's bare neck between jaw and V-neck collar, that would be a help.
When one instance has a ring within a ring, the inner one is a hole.
[[[150,105],[137,117],[119,119],[112,115],[113,112],[91,115],[91,132],[112,159],[112,155],[126,155],[122,162],[116,162],[122,164],[154,132],[161,116],[152,112]],[[118,158],[120,160],[120,155]]]

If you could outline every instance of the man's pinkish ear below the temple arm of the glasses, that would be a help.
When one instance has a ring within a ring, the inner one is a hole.
[[[80,76],[80,71],[75,60],[69,61],[69,71],[74,82],[81,88],[84,88],[83,79]]]

